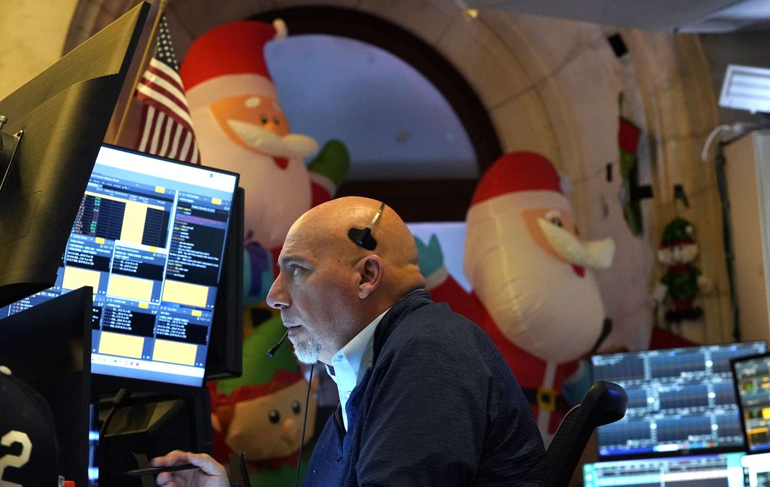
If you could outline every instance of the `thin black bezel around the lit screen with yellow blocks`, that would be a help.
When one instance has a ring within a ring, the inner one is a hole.
[[[233,175],[236,178],[235,185],[233,186],[233,201],[235,201],[237,197],[236,193],[238,192],[238,187],[240,182],[240,175],[237,172],[226,171],[225,169],[220,169],[220,168],[213,168],[207,165],[199,165],[199,164],[192,164],[190,162],[182,162],[176,159],[162,157],[159,155],[147,154],[146,152],[140,152],[140,151],[137,151],[136,149],[120,147],[119,145],[102,143],[102,147],[112,148],[122,152],[128,152],[130,154],[140,155],[142,157],[171,162],[173,164],[186,165],[193,168],[200,168],[206,171],[219,172],[221,174],[226,174],[226,175]],[[99,150],[101,152],[101,148]],[[99,161],[99,154],[97,153],[96,160],[94,162],[94,168],[98,164],[98,161]],[[92,169],[92,173],[93,173],[93,169]],[[91,179],[91,176],[89,175],[89,181],[90,179]],[[227,235],[228,235],[232,220],[233,218],[232,218],[232,206],[231,206],[230,217],[227,218],[227,226],[225,228],[225,243],[227,242]],[[223,252],[223,257],[224,257],[224,252]],[[222,275],[221,275],[221,262],[220,262],[219,278],[221,277]],[[217,282],[217,295],[219,295],[219,280]],[[216,308],[214,309],[214,311],[216,312]],[[208,359],[209,357],[210,342],[211,342],[211,329],[209,328],[209,335],[206,340],[206,359]],[[92,378],[92,381],[91,381],[92,392],[94,392],[95,394],[114,392],[118,389],[129,389],[130,391],[149,391],[149,392],[158,392],[158,393],[170,392],[172,394],[190,395],[190,394],[193,394],[196,389],[206,387],[206,366],[205,365],[203,366],[203,375],[200,378],[200,385],[185,385],[185,384],[177,384],[176,382],[153,381],[150,379],[136,379],[132,377],[123,377],[121,375],[106,375],[106,374],[99,374],[99,373],[92,373],[91,378]]]

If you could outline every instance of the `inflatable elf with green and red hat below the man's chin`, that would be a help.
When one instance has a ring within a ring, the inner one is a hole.
[[[243,340],[243,375],[208,384],[214,458],[226,463],[230,453],[246,452],[251,485],[294,485],[297,464],[306,468],[310,457],[305,449],[299,458],[307,381],[289,347],[265,355],[285,331],[278,316],[257,325]],[[311,395],[305,443],[315,422]]]

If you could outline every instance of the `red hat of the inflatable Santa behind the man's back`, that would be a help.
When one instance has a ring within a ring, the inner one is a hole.
[[[534,152],[513,152],[497,159],[481,177],[470,205],[502,196],[521,200],[517,206],[569,205],[554,165]]]

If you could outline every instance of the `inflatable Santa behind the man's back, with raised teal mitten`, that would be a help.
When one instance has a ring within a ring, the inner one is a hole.
[[[447,274],[437,241],[418,248],[434,299],[490,335],[550,440],[569,408],[561,394],[565,381],[606,334],[591,269],[611,265],[614,242],[581,240],[551,162],[517,152],[490,166],[470,202],[464,259],[470,294]]]

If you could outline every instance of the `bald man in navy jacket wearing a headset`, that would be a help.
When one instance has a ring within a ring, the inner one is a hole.
[[[422,289],[396,212],[357,197],[316,206],[292,225],[278,263],[267,302],[297,359],[323,362],[340,392],[306,486],[540,485],[543,442],[511,369],[477,325]],[[200,468],[162,473],[158,485],[229,485],[208,455],[153,465],[183,462]]]

